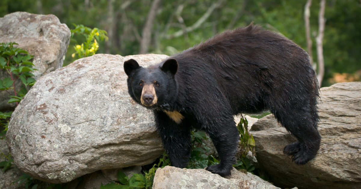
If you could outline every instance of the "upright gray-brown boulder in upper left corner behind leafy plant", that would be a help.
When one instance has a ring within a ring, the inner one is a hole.
[[[62,67],[70,42],[70,30],[52,14],[40,15],[15,12],[0,18],[0,43],[16,42],[18,48],[34,55],[35,79]],[[0,72],[0,78],[8,77]],[[18,82],[20,85],[21,82]],[[9,90],[9,92],[12,92]],[[0,91],[0,109],[13,109],[16,103],[8,104],[9,94]]]

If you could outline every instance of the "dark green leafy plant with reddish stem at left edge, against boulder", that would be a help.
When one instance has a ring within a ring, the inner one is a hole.
[[[0,69],[3,69],[9,77],[0,79],[0,90],[6,91],[10,95],[8,103],[20,102],[27,93],[27,86],[35,83],[33,72],[34,64],[31,62],[32,55],[26,50],[14,47],[18,45],[15,42],[0,44]],[[20,79],[23,86],[20,89],[15,88],[15,81]],[[11,95],[8,90],[13,90],[15,95]]]

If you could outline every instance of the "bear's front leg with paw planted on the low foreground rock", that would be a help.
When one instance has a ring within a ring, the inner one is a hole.
[[[235,155],[239,139],[233,117],[217,117],[209,123],[206,131],[217,149],[220,162],[217,165],[208,166],[206,170],[223,177],[231,175],[232,165],[236,162]]]

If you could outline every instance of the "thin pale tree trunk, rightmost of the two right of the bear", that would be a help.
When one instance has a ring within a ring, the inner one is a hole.
[[[317,44],[317,60],[318,60],[318,85],[321,87],[323,75],[325,75],[325,63],[323,59],[323,33],[325,31],[325,4],[326,0],[321,0],[319,13],[318,13],[318,35],[316,37]]]

